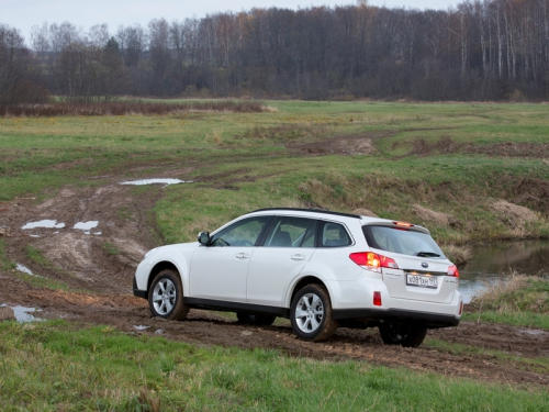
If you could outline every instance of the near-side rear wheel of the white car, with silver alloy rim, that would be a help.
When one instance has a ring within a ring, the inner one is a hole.
[[[305,341],[325,341],[337,329],[326,289],[312,283],[300,289],[292,299],[290,320],[295,335]]]

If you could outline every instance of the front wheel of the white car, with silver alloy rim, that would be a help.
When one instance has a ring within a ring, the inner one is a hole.
[[[165,269],[155,276],[148,290],[148,305],[153,316],[182,321],[189,308],[183,303],[181,277],[176,270]]]

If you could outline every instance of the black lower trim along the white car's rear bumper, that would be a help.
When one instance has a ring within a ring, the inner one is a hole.
[[[384,320],[416,321],[425,323],[427,327],[457,326],[459,324],[459,319],[452,315],[418,312],[418,311],[406,311],[401,309],[388,309],[388,310],[334,309],[334,319],[335,320],[366,319],[374,321],[384,321]]]

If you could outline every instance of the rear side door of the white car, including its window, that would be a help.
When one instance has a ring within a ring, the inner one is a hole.
[[[282,307],[284,292],[315,253],[316,221],[280,216],[249,264],[248,302]]]

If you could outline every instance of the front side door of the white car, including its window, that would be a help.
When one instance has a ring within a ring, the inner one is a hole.
[[[248,265],[269,216],[239,220],[199,246],[190,265],[190,296],[222,301],[246,301]]]

